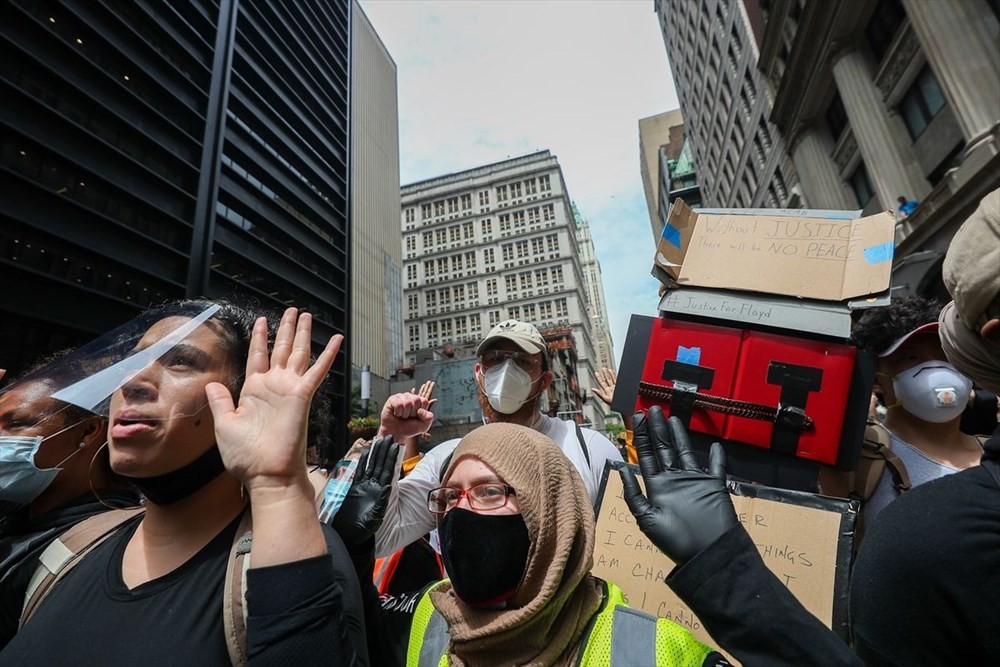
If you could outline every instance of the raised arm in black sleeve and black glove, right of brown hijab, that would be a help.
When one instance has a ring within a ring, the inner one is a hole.
[[[719,645],[747,665],[860,665],[764,565],[733,509],[722,445],[712,445],[705,473],[678,418],[667,422],[654,406],[634,420],[646,495],[623,469],[625,502],[677,564],[667,584]]]

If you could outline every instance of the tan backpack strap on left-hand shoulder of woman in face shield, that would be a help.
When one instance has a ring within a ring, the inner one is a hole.
[[[18,627],[24,627],[52,587],[84,556],[111,537],[126,521],[144,511],[144,507],[133,507],[102,512],[84,519],[54,539],[38,557],[38,569],[28,583]]]

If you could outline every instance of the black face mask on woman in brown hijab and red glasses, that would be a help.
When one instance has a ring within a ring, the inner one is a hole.
[[[520,514],[477,514],[455,508],[438,525],[441,558],[455,595],[489,607],[517,592],[531,538]]]

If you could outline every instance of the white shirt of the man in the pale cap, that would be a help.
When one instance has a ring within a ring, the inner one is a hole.
[[[581,428],[590,463],[576,436],[576,425],[539,413],[532,428],[551,438],[583,478],[591,504],[597,500],[604,475],[605,461],[621,461],[622,456],[610,440],[597,431]],[[441,468],[458,447],[459,440],[448,440],[431,449],[410,474],[392,487],[385,521],[375,535],[375,553],[388,556],[437,528],[437,519],[427,509],[427,494],[441,486]],[[401,464],[401,461],[399,462]],[[398,464],[397,464],[398,478]]]

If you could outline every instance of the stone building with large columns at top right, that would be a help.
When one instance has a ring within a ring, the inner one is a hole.
[[[893,287],[944,296],[944,251],[1000,183],[1000,2],[758,6],[770,120],[806,202],[871,212],[918,201],[897,222]]]

